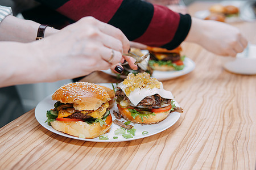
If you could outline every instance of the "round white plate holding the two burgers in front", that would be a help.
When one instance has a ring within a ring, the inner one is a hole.
[[[109,88],[112,88],[112,84],[111,83],[102,83],[101,85],[109,87]],[[120,126],[115,125],[115,124],[112,124],[112,128],[110,129],[109,133],[105,134],[106,136],[108,136],[108,138],[109,138],[108,140],[101,140],[98,137],[94,138],[94,139],[83,139],[83,138],[73,137],[72,135],[61,133],[60,131],[57,131],[57,130],[53,129],[52,126],[49,126],[47,123],[45,123],[45,121],[47,120],[46,111],[52,109],[53,108],[53,104],[55,102],[56,101],[51,100],[51,96],[48,96],[44,100],[40,101],[40,103],[35,108],[36,120],[38,120],[39,124],[41,124],[44,128],[48,129],[49,131],[52,131],[53,133],[56,133],[56,134],[59,134],[59,135],[62,135],[64,137],[68,137],[68,138],[79,139],[79,140],[82,140],[82,141],[91,141],[91,142],[122,142],[122,141],[131,141],[131,140],[135,140],[135,139],[145,138],[145,137],[149,137],[151,135],[160,133],[161,131],[170,128],[180,118],[180,113],[179,112],[172,112],[172,113],[170,113],[168,115],[168,117],[165,120],[163,120],[162,122],[159,122],[158,124],[154,124],[154,125],[141,125],[141,124],[133,124],[133,123],[131,123],[131,125],[133,125],[134,128],[137,129],[137,130],[135,132],[135,136],[133,138],[130,138],[130,139],[125,139],[125,138],[122,137],[122,135],[115,135],[114,134],[114,130],[120,128]],[[176,104],[177,107],[179,107],[179,104],[176,101],[175,101],[175,104]],[[110,110],[110,112],[113,113],[113,110],[118,111],[116,106],[113,107]],[[112,114],[112,118],[113,118],[113,120],[115,119],[113,114]],[[124,119],[121,119],[121,121],[123,121],[123,120]],[[143,131],[147,131],[148,134],[143,135],[142,134]],[[117,139],[113,139],[114,136],[118,137],[118,138]]]

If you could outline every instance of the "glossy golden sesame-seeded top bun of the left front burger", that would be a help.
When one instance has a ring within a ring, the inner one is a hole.
[[[52,100],[71,103],[78,111],[92,111],[110,100],[108,92],[97,84],[76,82],[65,84],[52,95]]]

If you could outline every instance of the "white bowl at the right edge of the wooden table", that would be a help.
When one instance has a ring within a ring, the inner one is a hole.
[[[256,45],[250,44],[247,49],[237,54],[237,57],[224,57],[224,68],[232,73],[256,74]]]

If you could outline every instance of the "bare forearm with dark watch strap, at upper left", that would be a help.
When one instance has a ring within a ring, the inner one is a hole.
[[[35,41],[39,25],[39,23],[31,20],[19,19],[9,15],[0,23],[0,41]],[[47,27],[44,37],[52,35],[57,31],[57,29]]]

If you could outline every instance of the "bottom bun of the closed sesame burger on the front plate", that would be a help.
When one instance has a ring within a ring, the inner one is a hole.
[[[88,124],[82,121],[53,121],[51,122],[52,128],[62,131],[63,133],[73,135],[79,138],[96,138],[104,133],[108,133],[112,125],[112,116],[106,118],[106,125],[100,125],[100,122]]]

